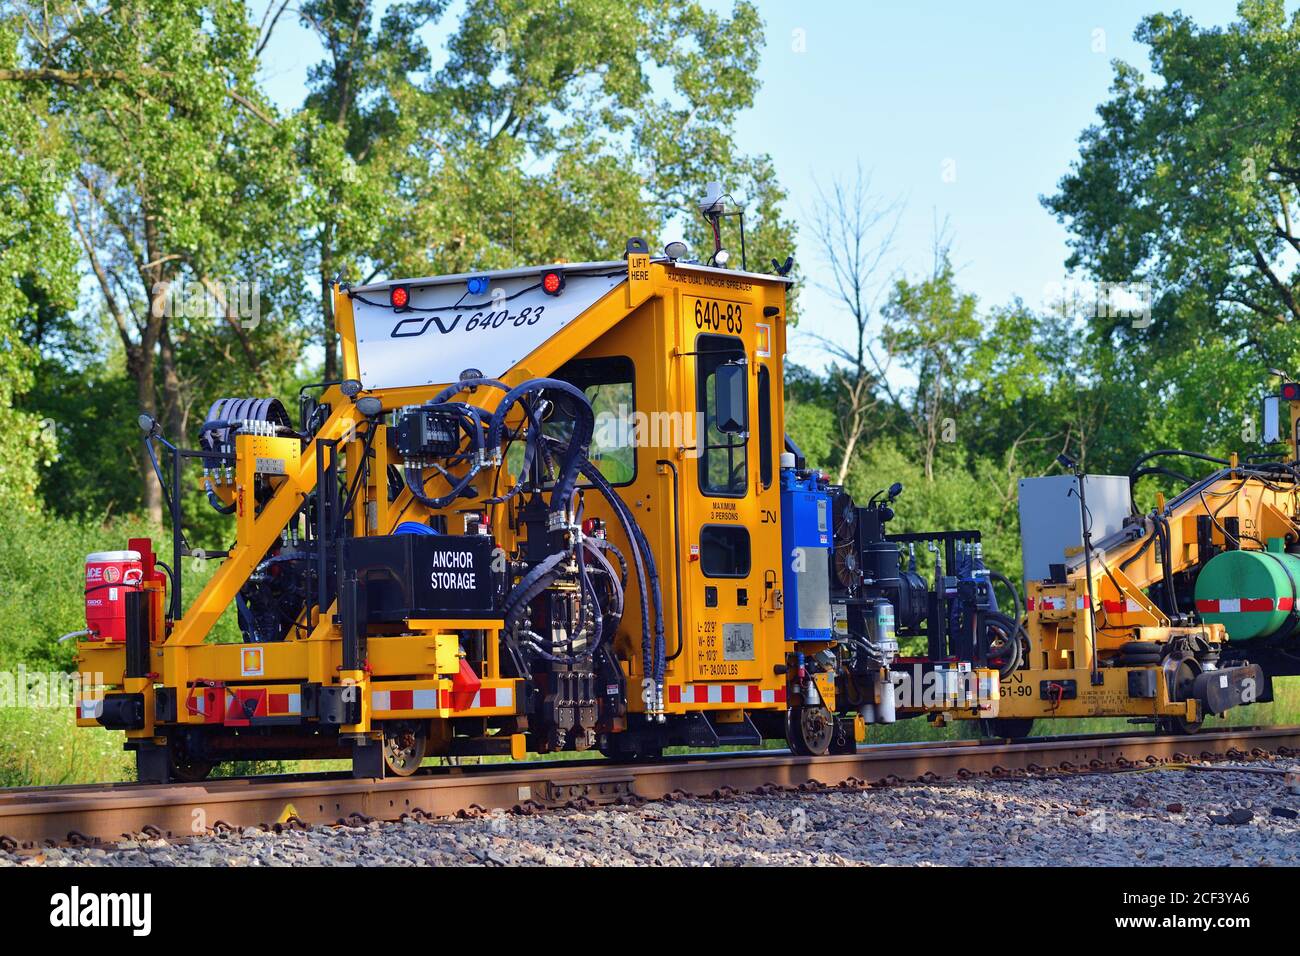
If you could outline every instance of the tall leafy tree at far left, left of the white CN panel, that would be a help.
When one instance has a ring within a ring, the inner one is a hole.
[[[299,281],[294,133],[255,88],[256,30],[239,0],[32,4],[21,22],[0,83],[48,101],[74,157],[64,206],[99,293],[90,320],[112,320],[136,407],[183,441],[196,393],[265,386],[296,354],[294,323],[270,316]],[[159,520],[143,460],[140,476]]]

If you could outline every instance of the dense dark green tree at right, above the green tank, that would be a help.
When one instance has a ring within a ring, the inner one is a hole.
[[[1044,204],[1070,226],[1070,268],[1166,300],[1150,332],[1102,315],[1117,338],[1174,354],[1212,329],[1277,362],[1274,333],[1287,328],[1290,358],[1300,319],[1300,13],[1238,9],[1225,29],[1141,21],[1156,77],[1115,64],[1100,122]]]

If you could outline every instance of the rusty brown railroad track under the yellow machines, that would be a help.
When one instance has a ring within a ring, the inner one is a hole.
[[[878,744],[855,754],[785,750],[692,754],[644,765],[604,760],[425,767],[408,778],[346,774],[246,777],[151,786],[0,790],[0,847],[169,840],[246,826],[307,827],[498,809],[542,812],[675,796],[779,788],[868,787],[966,777],[1113,771],[1188,760],[1300,756],[1300,727],[1240,727],[1196,736],[1106,734],[1023,741]]]

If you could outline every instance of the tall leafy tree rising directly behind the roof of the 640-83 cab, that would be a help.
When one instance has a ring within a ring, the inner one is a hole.
[[[608,259],[671,222],[705,250],[710,179],[745,208],[751,269],[793,251],[771,161],[733,144],[757,90],[753,5],[471,0],[437,72],[417,30],[445,4],[398,4],[377,26],[373,7],[303,8],[326,51],[304,138],[322,294],[341,272]],[[329,375],[328,298],[320,321]]]

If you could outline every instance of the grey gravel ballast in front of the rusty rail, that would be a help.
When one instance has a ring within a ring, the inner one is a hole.
[[[0,852],[18,866],[1300,865],[1280,774],[1153,770],[754,793]]]

